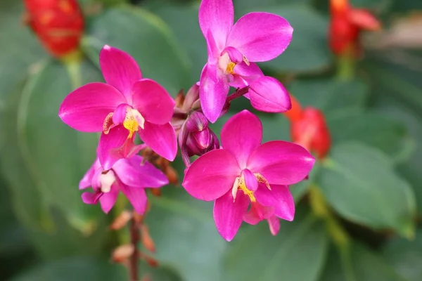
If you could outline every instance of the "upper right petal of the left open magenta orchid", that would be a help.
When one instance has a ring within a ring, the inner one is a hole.
[[[146,121],[163,125],[173,116],[174,100],[167,91],[151,79],[141,79],[133,87],[133,105]]]

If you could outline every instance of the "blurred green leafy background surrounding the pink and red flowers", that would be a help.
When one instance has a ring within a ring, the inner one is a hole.
[[[83,204],[77,188],[98,136],[65,126],[58,107],[77,86],[103,81],[104,44],[130,53],[144,77],[172,96],[198,81],[206,61],[199,1],[79,4],[83,55],[75,65],[52,53],[54,46],[43,48],[23,1],[0,1],[0,280],[127,280],[111,258],[128,239],[127,230],[109,229],[117,208],[106,216]],[[212,203],[193,200],[179,184],[151,195],[145,223],[156,251],[140,264],[143,280],[422,280],[422,1],[351,0],[376,15],[382,30],[363,34],[349,74],[328,47],[328,0],[234,4],[236,18],[268,11],[293,26],[288,49],[261,67],[302,107],[324,113],[329,152],[309,181],[290,187],[295,220],[282,221],[276,237],[265,222],[244,223],[226,242]],[[244,108],[252,110],[236,100],[212,125],[215,133]],[[284,115],[259,115],[264,141],[290,141]],[[183,163],[173,166],[180,183]]]

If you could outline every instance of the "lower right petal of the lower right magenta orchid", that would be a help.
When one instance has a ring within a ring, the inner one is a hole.
[[[261,185],[255,192],[255,197],[260,204],[273,206],[275,208],[274,215],[286,221],[293,221],[295,200],[293,200],[287,185],[271,185],[271,190],[265,185]]]

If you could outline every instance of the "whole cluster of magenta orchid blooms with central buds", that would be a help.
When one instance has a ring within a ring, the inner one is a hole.
[[[241,96],[256,110],[290,110],[286,89],[255,63],[283,53],[293,28],[271,13],[248,13],[234,23],[231,0],[201,1],[199,24],[208,60],[186,96],[181,92],[174,100],[156,81],[142,77],[129,54],[104,46],[99,60],[106,83],[81,86],[63,100],[58,115],[65,124],[101,133],[97,159],[79,184],[94,192],[84,192],[82,200],[100,202],[108,212],[122,191],[143,214],[144,188],[169,181],[146,153],[138,153],[148,150],[173,161],[179,143],[186,165],[182,185],[198,200],[215,201],[215,223],[224,239],[232,240],[243,221],[255,225],[267,220],[276,235],[279,218],[292,221],[295,213],[288,185],[307,177],[314,157],[295,143],[262,143],[260,119],[248,110],[229,118],[221,140],[210,123]],[[229,95],[230,87],[236,91]],[[192,162],[193,155],[198,158]]]

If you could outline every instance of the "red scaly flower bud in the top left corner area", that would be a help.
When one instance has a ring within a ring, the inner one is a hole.
[[[57,58],[75,51],[84,31],[77,0],[24,0],[27,22],[41,44]]]

